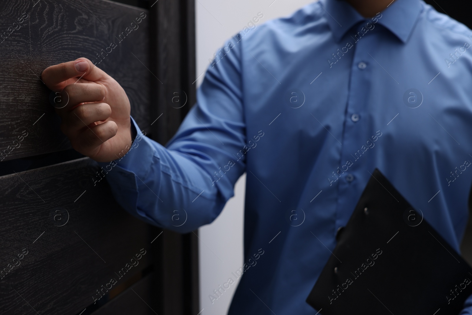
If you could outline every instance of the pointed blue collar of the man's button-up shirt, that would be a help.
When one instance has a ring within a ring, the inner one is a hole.
[[[380,13],[381,16],[377,22],[405,43],[420,15],[421,3],[421,0],[395,0]],[[368,20],[345,0],[319,0],[319,4],[337,42],[355,24]]]

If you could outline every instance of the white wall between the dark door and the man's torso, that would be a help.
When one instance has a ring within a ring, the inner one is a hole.
[[[312,0],[196,0],[196,76],[208,67],[209,59],[225,40],[240,31],[262,12],[260,23],[287,16]],[[258,23],[258,25],[260,24]],[[202,75],[196,82],[200,85]],[[232,285],[211,303],[208,296],[243,265],[243,218],[245,174],[238,180],[235,196],[210,225],[199,230],[200,315],[225,315],[236,289]],[[196,314],[195,314],[196,315]]]

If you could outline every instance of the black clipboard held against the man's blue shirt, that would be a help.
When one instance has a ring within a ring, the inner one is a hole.
[[[472,268],[376,169],[307,303],[320,315],[457,315]]]

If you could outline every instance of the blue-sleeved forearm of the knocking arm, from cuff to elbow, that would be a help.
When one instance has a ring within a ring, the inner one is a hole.
[[[128,212],[153,225],[188,232],[213,221],[233,194],[228,179],[212,179],[209,170],[219,170],[214,163],[168,150],[138,131],[124,157],[100,165]]]

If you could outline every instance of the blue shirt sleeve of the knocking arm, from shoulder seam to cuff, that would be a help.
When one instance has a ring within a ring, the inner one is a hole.
[[[189,232],[211,223],[234,196],[245,170],[240,45],[209,66],[197,102],[166,147],[144,136],[131,118],[136,130],[131,149],[120,159],[99,163],[115,199],[129,213]]]

